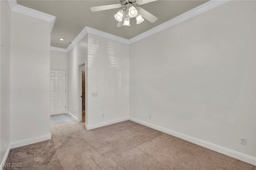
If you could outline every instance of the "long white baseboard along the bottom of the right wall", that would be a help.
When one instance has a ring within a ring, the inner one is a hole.
[[[212,144],[212,143],[209,143],[209,142],[197,139],[197,138],[193,138],[191,136],[187,136],[187,135],[184,135],[184,134],[181,134],[181,133],[178,133],[178,132],[174,132],[172,130],[169,130],[169,129],[166,129],[166,128],[162,128],[160,126],[156,126],[154,124],[150,124],[148,122],[144,122],[144,121],[138,120],[136,118],[130,117],[130,120],[133,121],[133,122],[142,124],[144,126],[148,126],[150,128],[153,128],[155,130],[159,130],[159,131],[164,132],[166,134],[170,134],[172,136],[176,136],[178,138],[184,139],[184,140],[186,140],[188,142],[192,142],[194,144],[203,146],[204,148],[208,148],[210,150],[214,150],[216,152],[220,152],[220,153],[225,154],[227,156],[230,156],[232,158],[236,158],[238,160],[242,160],[242,161],[247,162],[249,164],[256,165],[256,158],[255,157],[252,157],[252,156],[249,156],[249,155],[246,155],[246,154],[242,154],[240,152],[236,152],[234,150],[230,150],[228,148],[224,148],[222,146],[218,146],[218,145],[215,145],[215,144]]]

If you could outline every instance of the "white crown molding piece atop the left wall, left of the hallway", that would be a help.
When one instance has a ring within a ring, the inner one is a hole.
[[[17,4],[16,0],[8,0],[8,3],[10,6],[10,9],[14,12],[18,12],[20,14],[24,14],[27,16],[41,19],[41,20],[49,21],[51,23],[51,32],[52,32],[52,28],[53,28],[56,16],[52,16],[50,14],[46,14],[44,12],[40,12],[22,5],[19,5]]]

